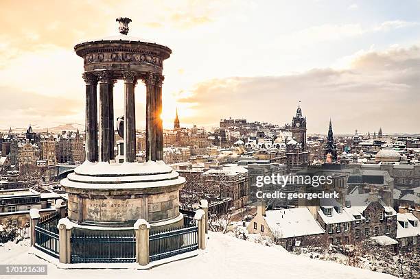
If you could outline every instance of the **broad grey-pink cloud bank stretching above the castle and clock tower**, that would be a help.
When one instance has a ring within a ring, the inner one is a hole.
[[[308,132],[419,132],[420,49],[370,51],[349,69],[313,69],[295,75],[229,77],[197,84],[178,101],[194,116],[181,121],[218,123],[220,117],[289,123],[301,100]]]

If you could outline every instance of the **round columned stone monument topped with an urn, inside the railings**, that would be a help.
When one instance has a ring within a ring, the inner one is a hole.
[[[117,21],[119,36],[74,47],[84,61],[86,162],[61,182],[69,193],[69,219],[89,226],[132,226],[140,218],[150,222],[153,228],[178,226],[183,222],[178,195],[185,179],[163,162],[163,128],[159,117],[163,60],[172,51],[128,36],[130,19]],[[122,163],[114,158],[116,80],[124,80]],[[146,162],[143,163],[135,162],[135,88],[139,83],[146,86]]]

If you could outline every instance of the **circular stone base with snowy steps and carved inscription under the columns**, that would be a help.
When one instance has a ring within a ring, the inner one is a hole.
[[[153,227],[182,225],[182,178],[164,162],[84,162],[61,181],[69,194],[69,219],[84,226],[130,227],[145,219]]]

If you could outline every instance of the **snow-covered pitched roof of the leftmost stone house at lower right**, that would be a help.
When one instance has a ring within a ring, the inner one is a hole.
[[[325,232],[307,208],[267,210],[264,219],[278,239]]]

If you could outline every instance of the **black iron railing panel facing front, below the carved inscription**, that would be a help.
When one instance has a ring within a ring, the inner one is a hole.
[[[73,230],[71,263],[134,263],[136,238],[132,231]]]

